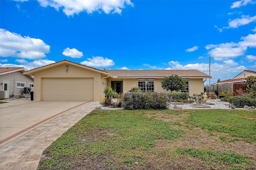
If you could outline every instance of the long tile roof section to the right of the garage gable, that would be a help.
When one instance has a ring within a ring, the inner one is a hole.
[[[104,70],[114,77],[168,77],[178,75],[180,77],[212,78],[208,74],[198,70]]]

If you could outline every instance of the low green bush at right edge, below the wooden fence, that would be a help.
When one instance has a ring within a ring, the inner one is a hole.
[[[256,106],[256,100],[242,96],[229,97],[227,101],[236,107]]]

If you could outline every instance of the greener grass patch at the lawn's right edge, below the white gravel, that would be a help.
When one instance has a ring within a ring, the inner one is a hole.
[[[255,111],[196,110],[190,112],[188,122],[210,132],[227,133],[249,143],[256,142]],[[225,141],[223,136],[221,138]]]

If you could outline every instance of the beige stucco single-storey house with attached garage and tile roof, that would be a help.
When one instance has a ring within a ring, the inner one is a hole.
[[[105,86],[127,92],[139,86],[143,92],[167,92],[160,81],[178,75],[187,80],[190,96],[204,92],[204,81],[211,76],[198,70],[99,70],[63,60],[24,72],[34,76],[34,100],[98,101]],[[170,91],[169,91],[170,92]]]

